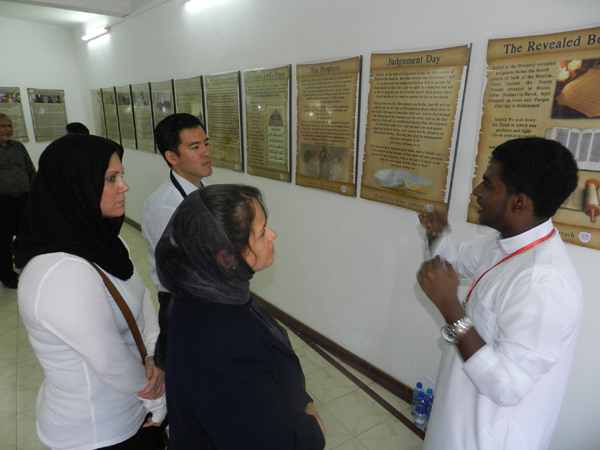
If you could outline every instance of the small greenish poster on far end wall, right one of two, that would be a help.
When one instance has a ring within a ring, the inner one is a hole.
[[[67,108],[62,89],[28,88],[36,141],[51,141],[65,134]]]

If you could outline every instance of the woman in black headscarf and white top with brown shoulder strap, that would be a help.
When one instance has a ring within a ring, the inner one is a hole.
[[[153,349],[156,311],[119,238],[129,189],[122,157],[120,145],[97,136],[50,144],[15,242],[24,267],[19,310],[45,376],[37,430],[52,449],[137,449],[142,424],[158,425],[166,413],[162,371],[152,356],[144,369],[123,313],[90,264],[119,290]]]

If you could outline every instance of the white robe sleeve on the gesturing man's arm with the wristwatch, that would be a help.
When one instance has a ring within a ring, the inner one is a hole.
[[[500,314],[487,311],[496,320],[496,339],[463,365],[477,390],[500,406],[518,404],[562,357],[576,332],[577,293],[559,274],[537,275],[519,277]]]

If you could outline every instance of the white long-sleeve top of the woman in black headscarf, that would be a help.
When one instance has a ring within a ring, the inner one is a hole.
[[[148,289],[137,271],[126,281],[107,274],[138,324],[149,353],[159,328]],[[161,422],[164,395],[136,396],[148,385],[139,350],[102,278],[67,253],[33,258],[19,281],[19,310],[44,369],[37,431],[52,449],[89,450],[125,441],[146,412]]]

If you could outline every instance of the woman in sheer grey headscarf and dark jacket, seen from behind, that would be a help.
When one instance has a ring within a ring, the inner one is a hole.
[[[170,449],[306,449],[325,429],[286,331],[250,294],[277,234],[258,189],[213,185],[179,205],[156,248],[175,298],[167,344]]]

